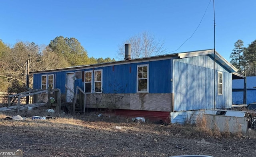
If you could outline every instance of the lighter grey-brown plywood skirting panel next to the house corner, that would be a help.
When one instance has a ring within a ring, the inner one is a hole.
[[[172,93],[130,94],[131,110],[171,111]]]

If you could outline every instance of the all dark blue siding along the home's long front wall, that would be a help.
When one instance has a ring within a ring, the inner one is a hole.
[[[172,60],[150,61],[142,63],[128,63],[107,67],[94,67],[77,71],[92,71],[102,69],[102,92],[103,93],[136,93],[137,65],[149,65],[149,92],[171,93],[172,92]],[[59,71],[54,73],[56,77],[55,88],[60,88],[61,93],[66,92],[66,73],[74,71]],[[33,88],[40,89],[44,74],[34,74]],[[84,89],[84,82],[79,78],[75,81],[75,88]],[[76,90],[76,89],[75,89]]]

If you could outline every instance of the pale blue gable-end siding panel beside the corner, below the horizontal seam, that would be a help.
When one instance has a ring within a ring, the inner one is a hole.
[[[174,111],[205,108],[204,68],[174,61],[174,71]]]

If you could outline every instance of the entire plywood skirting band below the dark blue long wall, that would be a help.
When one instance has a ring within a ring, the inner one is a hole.
[[[86,94],[86,108],[172,110],[172,93]]]

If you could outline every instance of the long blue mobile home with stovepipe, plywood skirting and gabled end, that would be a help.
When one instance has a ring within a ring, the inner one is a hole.
[[[164,118],[170,112],[231,107],[236,71],[208,49],[35,71],[33,88],[59,88],[63,101],[72,102],[78,86],[86,93],[86,108]]]

